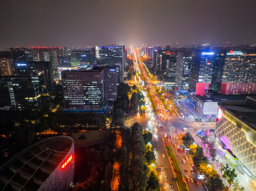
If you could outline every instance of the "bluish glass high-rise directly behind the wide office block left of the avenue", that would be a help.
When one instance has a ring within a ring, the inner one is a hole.
[[[97,66],[118,66],[117,78],[118,84],[123,81],[125,70],[125,46],[109,45],[96,46],[96,65]]]

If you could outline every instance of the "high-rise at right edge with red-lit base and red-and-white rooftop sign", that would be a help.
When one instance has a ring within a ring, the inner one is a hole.
[[[256,50],[221,50],[217,91],[222,94],[256,94]]]

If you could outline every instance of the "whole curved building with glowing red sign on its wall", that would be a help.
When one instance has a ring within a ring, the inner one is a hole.
[[[73,182],[74,167],[73,139],[47,138],[0,167],[0,190],[68,190]]]

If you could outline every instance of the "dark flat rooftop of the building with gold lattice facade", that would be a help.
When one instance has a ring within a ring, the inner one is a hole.
[[[245,101],[221,101],[218,105],[256,131],[256,96]]]

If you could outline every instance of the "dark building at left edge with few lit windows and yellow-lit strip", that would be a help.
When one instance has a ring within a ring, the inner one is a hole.
[[[37,107],[40,101],[38,76],[0,76],[0,107]]]

